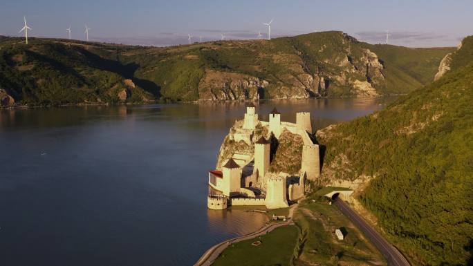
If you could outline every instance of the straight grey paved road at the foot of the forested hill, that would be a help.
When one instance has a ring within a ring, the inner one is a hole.
[[[402,254],[396,249],[396,247],[393,247],[393,245],[389,244],[386,239],[384,239],[373,227],[368,225],[366,221],[363,220],[361,216],[358,215],[358,213],[355,213],[353,209],[349,207],[343,200],[340,200],[340,198],[335,198],[333,200],[333,205],[337,206],[342,213],[344,213],[345,216],[350,218],[350,220],[358,227],[360,230],[363,232],[369,240],[371,240],[371,243],[377,247],[381,253],[384,255],[384,257],[387,258],[388,260],[388,265],[393,265],[393,266],[409,266],[409,262],[407,259],[402,256]]]

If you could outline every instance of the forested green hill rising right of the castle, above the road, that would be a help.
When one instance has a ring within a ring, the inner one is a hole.
[[[324,182],[374,177],[358,199],[414,265],[473,263],[471,41],[436,82],[317,133]]]

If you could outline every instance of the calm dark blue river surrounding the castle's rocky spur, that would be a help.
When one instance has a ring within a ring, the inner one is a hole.
[[[396,97],[263,101],[315,129]],[[192,265],[261,227],[261,213],[207,210],[207,171],[245,104],[0,111],[0,265]]]

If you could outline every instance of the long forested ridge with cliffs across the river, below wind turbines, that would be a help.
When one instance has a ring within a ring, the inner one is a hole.
[[[2,104],[384,95],[431,81],[454,48],[370,45],[343,32],[151,48],[0,38]]]

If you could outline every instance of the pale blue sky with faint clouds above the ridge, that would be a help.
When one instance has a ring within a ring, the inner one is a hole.
[[[299,35],[314,30],[342,30],[361,41],[384,41],[412,47],[456,46],[473,35],[473,1],[282,1],[282,0],[3,0],[0,35],[19,36],[23,16],[36,37],[84,39],[84,24],[93,41],[163,46],[194,41],[253,39],[262,23],[274,18],[272,37]]]

